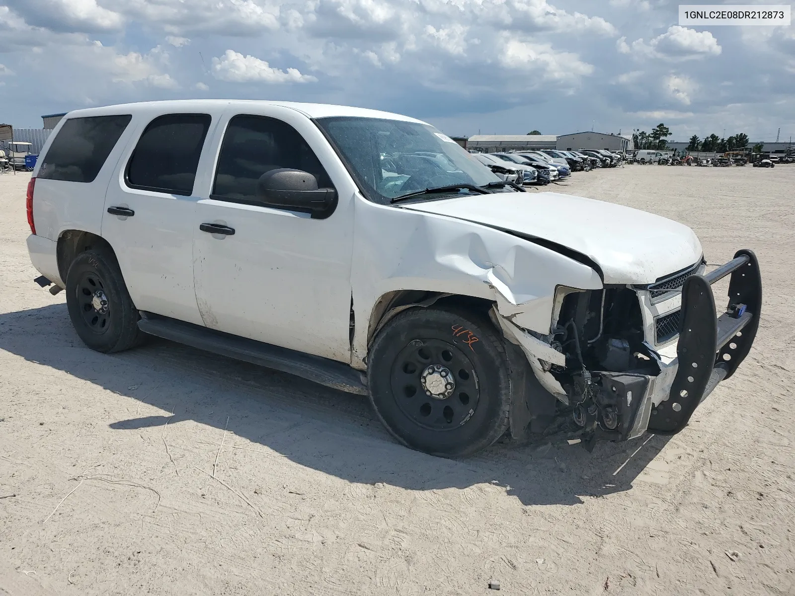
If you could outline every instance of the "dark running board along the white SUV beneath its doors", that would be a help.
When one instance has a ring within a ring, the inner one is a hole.
[[[367,394],[362,373],[343,362],[272,346],[270,343],[207,329],[150,312],[142,311],[141,317],[138,327],[150,335],[269,369],[281,370],[283,373],[294,374],[340,391]]]

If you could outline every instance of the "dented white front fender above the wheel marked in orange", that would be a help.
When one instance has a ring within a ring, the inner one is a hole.
[[[548,334],[556,287],[599,289],[599,274],[564,254],[502,230],[361,199],[352,263],[355,320],[370,320],[388,292],[422,290],[493,300],[518,327]],[[352,363],[363,362],[366,324],[357,324]]]

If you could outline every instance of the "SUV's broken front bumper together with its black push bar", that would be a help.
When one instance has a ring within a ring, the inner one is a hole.
[[[712,284],[730,274],[727,309],[718,316]],[[633,439],[646,430],[657,435],[680,432],[718,383],[737,370],[754,343],[762,306],[762,278],[752,251],[739,250],[718,269],[688,277],[681,296],[676,357],[655,354],[660,366],[657,377],[607,373],[610,378],[603,379],[614,387],[615,381],[622,381],[616,387],[619,395],[626,393],[623,385],[630,381],[636,389],[642,388],[642,399],[634,405],[630,400],[619,402],[622,419],[626,420],[619,440]]]

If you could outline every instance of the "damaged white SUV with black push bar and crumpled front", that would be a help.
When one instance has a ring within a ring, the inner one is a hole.
[[[92,349],[158,335],[369,393],[432,454],[560,416],[586,445],[678,432],[754,341],[754,254],[704,275],[679,223],[520,191],[397,114],[109,106],[49,137],[28,247]]]

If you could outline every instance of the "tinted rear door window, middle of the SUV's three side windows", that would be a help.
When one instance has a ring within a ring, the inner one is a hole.
[[[149,122],[127,164],[127,184],[191,195],[210,120],[209,114],[168,114]]]

